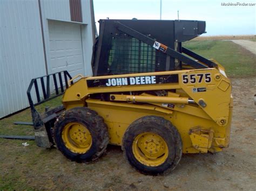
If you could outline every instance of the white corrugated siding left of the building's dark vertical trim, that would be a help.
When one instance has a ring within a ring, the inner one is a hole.
[[[45,75],[38,1],[0,1],[0,118],[29,106],[26,89]]]

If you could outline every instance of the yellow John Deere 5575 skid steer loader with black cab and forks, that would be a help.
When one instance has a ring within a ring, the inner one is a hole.
[[[205,22],[99,23],[92,77],[72,78],[64,71],[31,81],[28,97],[38,146],[56,145],[68,159],[90,162],[108,144],[119,145],[134,168],[150,175],[172,171],[182,153],[228,147],[231,82],[217,61],[181,45],[205,33]],[[44,114],[35,109],[61,94],[62,106]]]

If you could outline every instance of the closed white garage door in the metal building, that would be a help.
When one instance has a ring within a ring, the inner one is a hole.
[[[81,30],[79,24],[48,21],[51,72],[68,70],[71,76],[84,74]]]

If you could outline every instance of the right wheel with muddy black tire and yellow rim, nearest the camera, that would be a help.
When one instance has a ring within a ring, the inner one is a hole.
[[[125,158],[140,173],[170,173],[182,155],[178,130],[163,117],[145,116],[134,121],[123,138]]]

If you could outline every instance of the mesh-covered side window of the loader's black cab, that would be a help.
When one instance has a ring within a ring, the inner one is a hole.
[[[155,72],[161,56],[152,46],[132,37],[114,37],[109,52],[109,73]]]

